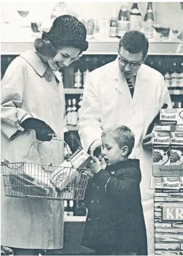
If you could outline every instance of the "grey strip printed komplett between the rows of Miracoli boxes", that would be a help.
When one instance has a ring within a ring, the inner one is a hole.
[[[183,176],[183,165],[163,165],[163,166],[152,166],[152,174],[156,177],[176,177]]]

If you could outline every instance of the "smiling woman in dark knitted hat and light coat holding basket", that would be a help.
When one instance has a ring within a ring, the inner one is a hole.
[[[43,31],[42,38],[35,40],[34,47],[36,51],[27,51],[11,62],[2,80],[2,158],[24,161],[32,143],[43,141],[40,157],[49,164],[49,134],[55,133],[59,146],[53,165],[60,165],[63,138],[71,150],[77,145],[68,139],[68,133],[64,136],[65,102],[58,71],[87,50],[86,28],[75,17],[60,16],[49,32]],[[33,151],[37,156],[36,148]],[[3,246],[15,252],[16,248],[27,249],[19,250],[19,255],[34,255],[32,249],[63,247],[62,201],[7,197],[2,191],[2,209]]]

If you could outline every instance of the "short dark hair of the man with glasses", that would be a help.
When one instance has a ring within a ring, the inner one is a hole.
[[[143,53],[143,58],[148,53],[149,42],[145,37],[145,34],[137,30],[129,30],[124,36],[120,39],[119,42],[119,51],[121,47],[127,50],[129,53]]]

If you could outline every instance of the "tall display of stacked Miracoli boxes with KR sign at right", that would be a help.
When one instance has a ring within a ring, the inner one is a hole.
[[[162,109],[153,130],[155,255],[183,254],[183,109]]]

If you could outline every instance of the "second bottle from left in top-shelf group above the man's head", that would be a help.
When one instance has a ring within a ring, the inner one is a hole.
[[[124,33],[129,30],[129,7],[123,3],[117,19],[117,37],[123,37]]]

